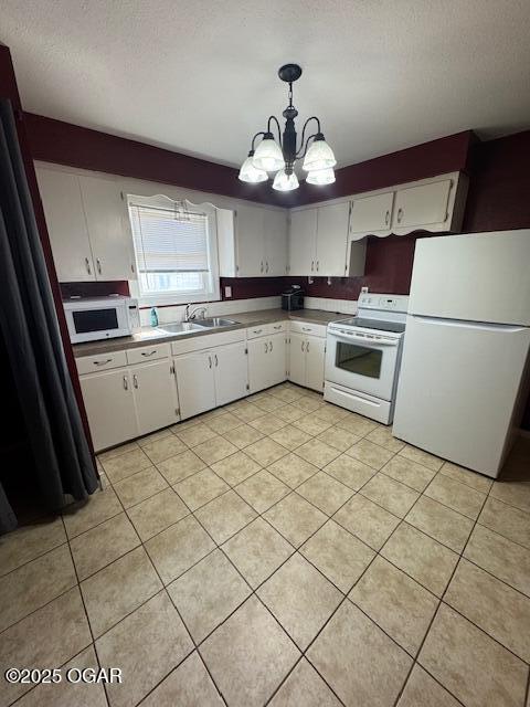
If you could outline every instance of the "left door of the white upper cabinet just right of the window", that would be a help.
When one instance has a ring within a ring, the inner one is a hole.
[[[239,277],[265,275],[263,212],[258,207],[239,207],[235,214],[236,272]]]

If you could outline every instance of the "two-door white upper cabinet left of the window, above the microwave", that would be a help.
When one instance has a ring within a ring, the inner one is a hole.
[[[117,180],[35,166],[61,282],[136,279],[132,235]]]

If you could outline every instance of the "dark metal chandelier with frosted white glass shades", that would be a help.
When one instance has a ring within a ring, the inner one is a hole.
[[[297,135],[295,118],[298,110],[293,105],[293,83],[301,76],[301,67],[298,64],[285,64],[278,70],[282,81],[289,84],[289,105],[283,112],[285,129],[282,128],[276,116],[272,115],[267,122],[265,131],[256,133],[252,138],[251,151],[240,170],[240,179],[250,183],[257,183],[268,179],[267,172],[276,172],[273,189],[277,191],[292,191],[298,189],[298,178],[295,172],[295,163],[303,159],[301,169],[307,172],[306,181],[309,184],[331,184],[335,181],[333,167],[337,165],[332,149],[324,139],[320,129],[320,120],[316,116],[307,118],[301,130],[301,141],[297,149]],[[306,128],[316,122],[316,133],[306,137]],[[278,140],[274,139],[272,125],[278,130]],[[257,138],[261,143],[255,147]]]

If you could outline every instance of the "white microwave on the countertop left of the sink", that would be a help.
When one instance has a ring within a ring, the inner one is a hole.
[[[140,328],[138,302],[131,297],[73,297],[63,306],[72,344],[130,336]]]

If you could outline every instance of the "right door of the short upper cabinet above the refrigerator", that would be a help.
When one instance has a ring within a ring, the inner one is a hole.
[[[452,184],[451,179],[444,179],[431,184],[400,189],[395,196],[394,228],[412,229],[446,221]]]

